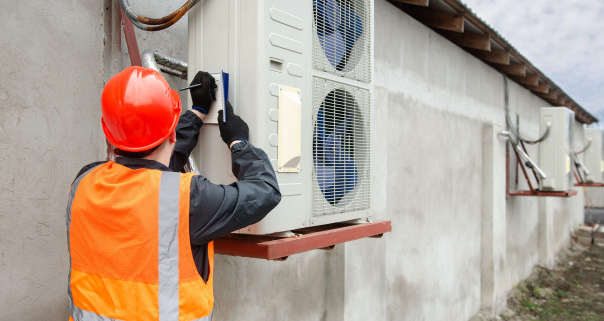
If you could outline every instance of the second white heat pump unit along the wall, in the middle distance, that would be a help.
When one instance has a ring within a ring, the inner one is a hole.
[[[539,167],[547,176],[539,182],[541,190],[567,191],[572,186],[573,128],[575,113],[566,107],[541,108],[541,130],[550,125],[548,137],[539,144]]]

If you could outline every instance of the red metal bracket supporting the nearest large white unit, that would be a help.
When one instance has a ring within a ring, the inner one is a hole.
[[[335,245],[366,237],[382,237],[392,231],[390,221],[361,224],[329,224],[292,231],[292,237],[229,234],[214,241],[217,254],[266,260],[285,260],[288,256],[311,250],[331,250]]]

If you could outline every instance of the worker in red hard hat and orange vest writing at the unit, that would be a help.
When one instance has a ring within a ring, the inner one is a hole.
[[[105,85],[101,122],[119,157],[85,166],[71,186],[70,320],[211,320],[212,241],[279,203],[267,155],[228,102],[218,128],[238,181],[180,173],[215,99],[214,78],[199,72],[191,85],[199,83],[182,116],[154,70],[129,67]]]

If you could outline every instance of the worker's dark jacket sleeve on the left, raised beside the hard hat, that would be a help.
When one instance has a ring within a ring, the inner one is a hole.
[[[203,121],[199,119],[192,111],[187,110],[176,125],[176,145],[174,146],[174,154],[170,158],[170,169],[175,172],[182,171],[183,167],[189,159],[189,155],[197,145],[199,138],[199,129],[203,125]]]

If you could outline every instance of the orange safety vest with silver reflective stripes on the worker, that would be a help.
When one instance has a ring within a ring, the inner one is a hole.
[[[193,261],[193,174],[107,162],[80,175],[67,204],[70,320],[211,320],[214,246]]]

